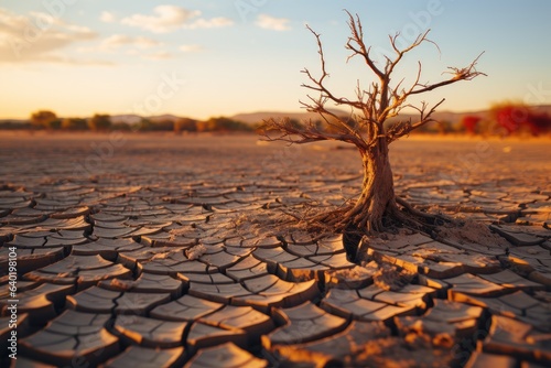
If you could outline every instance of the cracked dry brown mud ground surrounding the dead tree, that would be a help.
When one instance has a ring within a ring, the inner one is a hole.
[[[465,226],[364,239],[358,266],[339,235],[263,225],[354,198],[353,150],[2,133],[0,365],[551,365],[550,142],[411,139],[391,161],[397,193]]]

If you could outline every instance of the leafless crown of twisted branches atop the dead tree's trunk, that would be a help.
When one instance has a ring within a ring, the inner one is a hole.
[[[336,133],[318,129],[313,125],[309,125],[307,127],[296,127],[290,125],[289,121],[276,122],[271,120],[269,123],[266,123],[266,127],[271,129],[272,133],[276,131],[280,134],[276,138],[273,136],[266,136],[268,140],[282,140],[298,144],[321,140],[341,140],[355,144],[360,150],[378,144],[377,142],[385,138],[387,142],[392,142],[400,137],[409,134],[412,130],[418,129],[430,121],[434,121],[431,116],[443,102],[443,100],[441,100],[432,108],[429,108],[425,102],[415,107],[408,104],[410,96],[423,94],[458,80],[471,80],[479,75],[485,75],[484,73],[476,71],[476,64],[482,56],[480,54],[467,67],[449,67],[447,73],[451,73],[452,76],[449,79],[433,84],[421,83],[422,65],[421,62],[418,62],[418,72],[411,85],[403,86],[406,79],[402,78],[398,82],[398,84],[391,86],[391,76],[393,76],[395,68],[403,61],[403,56],[406,54],[425,42],[433,44],[440,53],[439,46],[433,41],[428,39],[430,30],[424,33],[420,33],[415,40],[404,48],[399,47],[398,39],[400,37],[400,33],[389,35],[389,42],[395,55],[392,57],[385,55],[386,65],[385,68],[381,69],[376,65],[374,58],[371,58],[369,54],[371,48],[365,43],[364,29],[359,17],[357,14],[353,15],[348,11],[346,11],[346,13],[348,14],[350,36],[348,37],[345,47],[352,51],[352,55],[348,56],[348,59],[354,56],[360,56],[365,61],[369,71],[375,74],[378,82],[371,83],[368,90],[364,90],[360,88],[360,83],[358,80],[355,98],[353,99],[338,97],[332,93],[326,86],[326,79],[329,77],[329,74],[326,69],[326,59],[321,34],[316,33],[306,25],[307,30],[312,32],[316,40],[317,53],[320,55],[321,75],[314,76],[307,68],[302,71],[307,78],[307,82],[302,84],[302,87],[315,91],[318,96],[314,98],[306,95],[309,101],[301,101],[301,104],[307,111],[317,113],[325,125],[335,130]],[[331,109],[326,107],[327,102],[332,102],[336,106],[348,106],[350,109],[350,117],[360,115],[359,118],[355,119],[358,122],[357,126],[352,127],[346,119],[343,119],[332,112]],[[419,120],[417,122],[400,121],[386,131],[385,122],[390,118],[399,116],[404,108],[415,109],[419,112]]]

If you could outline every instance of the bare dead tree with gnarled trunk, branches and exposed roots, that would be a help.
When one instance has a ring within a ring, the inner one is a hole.
[[[392,85],[393,72],[407,53],[423,43],[434,44],[426,37],[430,30],[420,34],[406,48],[398,46],[399,33],[389,36],[393,55],[386,55],[385,62],[379,66],[370,55],[371,47],[367,46],[364,41],[359,17],[353,17],[349,12],[347,14],[352,33],[345,46],[352,52],[348,59],[360,57],[366,67],[374,74],[376,82],[371,83],[367,90],[363,89],[358,83],[354,99],[338,97],[332,93],[326,86],[329,75],[326,71],[321,36],[307,28],[317,41],[321,76],[314,76],[309,69],[302,71],[309,79],[302,86],[317,93],[318,96],[307,95],[309,101],[301,101],[301,104],[307,111],[318,113],[323,121],[332,127],[331,132],[320,129],[314,123],[306,122],[298,127],[290,123],[289,120],[276,121],[271,119],[264,121],[264,139],[295,144],[334,140],[354,144],[358,149],[364,166],[361,194],[354,204],[316,217],[316,220],[324,225],[337,231],[359,230],[366,234],[381,232],[388,226],[397,223],[425,228],[425,225],[434,224],[434,218],[415,210],[406,201],[395,195],[392,170],[389,162],[389,144],[409,134],[412,130],[434,121],[432,115],[444,101],[442,99],[432,107],[426,102],[413,106],[408,102],[410,96],[421,95],[460,80],[471,80],[476,76],[484,75],[476,71],[479,56],[464,68],[449,67],[450,77],[433,84],[421,82],[421,63],[418,62],[417,77],[409,87],[402,86],[403,79]],[[435,46],[437,48],[437,45]],[[349,108],[350,116],[356,123],[350,125],[348,117],[343,118],[334,111],[332,112],[328,104]],[[409,119],[386,127],[386,122],[390,118],[398,117],[404,108],[414,109],[419,113],[419,119],[414,121]]]

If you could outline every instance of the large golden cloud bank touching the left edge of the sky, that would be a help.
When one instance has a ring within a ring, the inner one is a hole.
[[[60,53],[97,37],[98,34],[90,29],[66,23],[51,14],[32,12],[21,15],[0,8],[0,63],[97,64],[79,62]]]

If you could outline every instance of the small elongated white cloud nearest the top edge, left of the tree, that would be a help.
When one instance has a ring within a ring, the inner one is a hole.
[[[201,11],[187,10],[176,6],[159,6],[153,8],[153,14],[133,14],[123,18],[125,25],[137,26],[153,33],[169,33],[180,29],[206,29],[228,26],[234,21],[227,18],[198,18]]]

